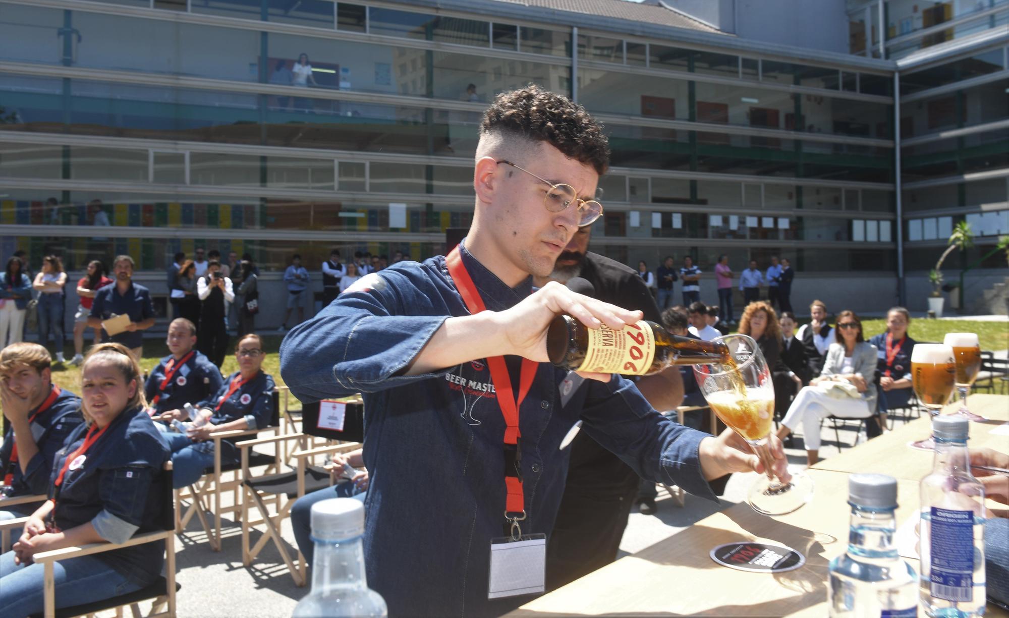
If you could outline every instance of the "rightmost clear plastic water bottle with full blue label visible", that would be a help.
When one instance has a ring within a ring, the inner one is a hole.
[[[985,488],[971,474],[969,427],[959,414],[932,420],[935,456],[921,480],[921,605],[933,618],[985,612]]]

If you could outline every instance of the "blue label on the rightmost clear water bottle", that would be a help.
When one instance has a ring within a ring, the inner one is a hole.
[[[974,596],[974,512],[932,507],[931,594],[945,601]]]

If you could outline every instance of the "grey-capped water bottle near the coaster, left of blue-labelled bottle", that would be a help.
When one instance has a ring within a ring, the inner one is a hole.
[[[833,618],[918,615],[917,576],[897,554],[897,480],[852,475],[848,480],[852,524],[848,551],[830,560],[827,589]]]

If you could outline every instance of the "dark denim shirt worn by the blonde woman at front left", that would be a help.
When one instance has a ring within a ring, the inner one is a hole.
[[[67,457],[84,442],[81,424],[52,462],[49,498]],[[67,470],[53,510],[61,530],[91,522],[106,540],[123,542],[136,532],[161,530],[165,482],[161,468],[169,449],[143,408],[123,410],[86,453],[84,465]],[[147,586],[161,573],[163,543],[144,543],[96,554],[137,586]]]

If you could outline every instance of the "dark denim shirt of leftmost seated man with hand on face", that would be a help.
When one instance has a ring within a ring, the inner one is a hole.
[[[46,396],[48,391],[46,391]],[[32,409],[28,416],[35,413]],[[21,466],[10,460],[14,448],[14,431],[7,423],[3,444],[0,445],[0,477],[8,471],[13,471],[14,488],[11,496],[30,496],[45,494],[49,489],[49,473],[52,470],[52,457],[67,441],[67,437],[84,422],[81,416],[81,398],[67,390],[61,390],[57,400],[49,409],[42,412],[31,421],[31,435],[35,438],[38,452],[28,461],[28,468],[21,473]],[[13,464],[13,466],[11,466]],[[3,502],[0,502],[0,506]]]

